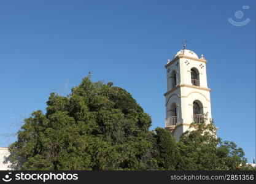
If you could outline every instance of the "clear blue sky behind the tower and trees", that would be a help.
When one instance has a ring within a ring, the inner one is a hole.
[[[188,40],[208,59],[218,136],[255,158],[255,1],[9,0],[0,23],[0,147],[22,117],[45,112],[50,93],[70,93],[89,71],[129,91],[152,129],[165,126],[164,66]]]

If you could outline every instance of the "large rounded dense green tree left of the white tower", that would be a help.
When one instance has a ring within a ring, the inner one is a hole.
[[[9,149],[26,170],[147,170],[151,118],[122,88],[85,77],[68,96],[52,93],[47,112],[33,112]]]

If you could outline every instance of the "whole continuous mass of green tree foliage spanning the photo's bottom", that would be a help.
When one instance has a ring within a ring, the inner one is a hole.
[[[177,142],[122,88],[91,82],[68,96],[52,93],[46,113],[25,119],[10,145],[21,170],[237,170],[248,169],[241,148],[215,136],[213,123],[195,124]],[[241,165],[242,164],[242,165]],[[241,167],[238,167],[240,166]]]

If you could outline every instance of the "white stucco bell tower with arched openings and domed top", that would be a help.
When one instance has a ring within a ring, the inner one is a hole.
[[[176,140],[187,131],[190,123],[201,121],[203,114],[211,115],[210,91],[207,85],[206,59],[184,49],[168,59],[165,65],[167,92],[165,93],[165,129]]]

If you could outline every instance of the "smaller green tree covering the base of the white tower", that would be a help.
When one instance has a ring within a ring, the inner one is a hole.
[[[205,120],[205,118],[204,118]],[[178,170],[239,170],[246,164],[244,151],[236,144],[224,141],[216,136],[214,122],[192,123],[180,137],[181,159]]]

